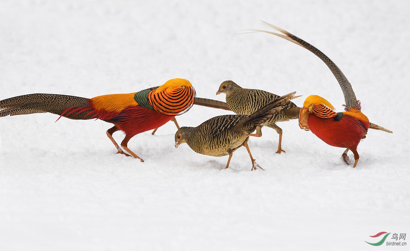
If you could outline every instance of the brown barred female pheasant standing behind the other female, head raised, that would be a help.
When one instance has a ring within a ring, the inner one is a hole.
[[[234,113],[246,115],[254,113],[279,97],[276,94],[264,90],[241,88],[230,80],[221,83],[216,95],[220,93],[226,94],[226,104]],[[285,152],[282,150],[282,128],[278,127],[276,122],[298,118],[300,109],[300,107],[297,107],[291,101],[287,101],[287,103],[282,105],[280,112],[273,114],[269,120],[266,120],[266,122],[256,127],[256,134],[251,134],[251,136],[261,137],[263,126],[273,128],[279,134],[278,151],[276,153],[280,154],[281,152]]]

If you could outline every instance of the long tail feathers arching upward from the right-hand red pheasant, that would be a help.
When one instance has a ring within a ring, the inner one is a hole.
[[[291,33],[287,32],[286,30],[282,30],[281,28],[278,28],[275,25],[271,25],[270,23],[266,23],[264,21],[262,21],[262,23],[266,26],[269,26],[269,27],[275,29],[275,30],[278,30],[279,32],[282,32],[286,36],[282,35],[282,34],[275,33],[275,32],[269,32],[269,31],[266,31],[266,30],[254,30],[254,31],[265,32],[265,33],[269,33],[269,34],[272,34],[272,35],[276,35],[278,37],[282,37],[282,38],[284,38],[288,41],[294,42],[295,44],[298,44],[298,45],[302,46],[303,48],[306,48],[307,50],[314,53],[314,55],[317,55],[329,67],[330,71],[332,71],[333,75],[337,79],[337,82],[339,82],[340,88],[342,88],[342,91],[343,91],[344,100],[346,102],[347,108],[351,108],[351,107],[353,107],[355,109],[358,108],[357,99],[356,99],[355,93],[353,92],[351,84],[347,80],[346,76],[344,76],[343,72],[339,69],[339,67],[337,67],[337,65],[332,60],[330,60],[330,58],[328,58],[328,56],[323,54],[316,47],[314,47],[311,44],[307,43],[306,41],[296,37],[295,35],[292,35]]]

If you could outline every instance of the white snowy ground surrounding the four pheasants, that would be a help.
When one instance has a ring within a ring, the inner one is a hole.
[[[244,29],[260,20],[305,39],[344,72],[371,122],[357,168],[296,120],[264,128],[228,157],[174,147],[173,123],[114,154],[103,121],[33,114],[0,119],[1,250],[374,250],[381,231],[410,238],[407,1],[0,2],[0,99],[136,92],[187,78],[198,97],[220,83],[344,98],[314,54]],[[193,107],[197,126],[221,114]],[[122,134],[114,134],[122,140]],[[391,235],[392,235],[391,234]],[[389,238],[387,239],[389,240]],[[391,239],[390,239],[391,241]],[[408,241],[410,242],[410,240]],[[408,246],[410,243],[408,243]],[[392,249],[389,246],[379,249]],[[403,247],[404,250],[405,248]]]

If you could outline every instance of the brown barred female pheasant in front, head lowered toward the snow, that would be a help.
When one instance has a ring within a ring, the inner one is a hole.
[[[187,143],[197,153],[209,156],[229,155],[226,168],[229,166],[232,153],[239,147],[245,146],[252,161],[252,169],[261,168],[253,159],[248,147],[248,139],[256,127],[269,120],[273,114],[278,113],[292,99],[293,94],[278,97],[271,103],[260,108],[251,115],[221,115],[211,118],[197,127],[181,127],[175,133],[175,148],[182,143]],[[262,169],[262,168],[261,168]]]

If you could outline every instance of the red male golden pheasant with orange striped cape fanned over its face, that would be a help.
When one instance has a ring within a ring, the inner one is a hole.
[[[128,94],[109,94],[91,99],[59,94],[28,94],[0,101],[0,117],[31,113],[54,113],[73,120],[100,119],[114,124],[107,130],[117,153],[140,159],[128,149],[135,135],[162,126],[176,115],[187,112],[194,104],[195,90],[186,79],[174,78],[157,88]],[[123,150],[112,138],[123,131]]]

